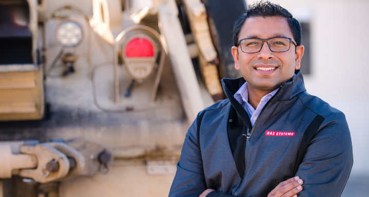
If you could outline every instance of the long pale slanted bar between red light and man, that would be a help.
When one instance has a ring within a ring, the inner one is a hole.
[[[158,6],[158,10],[164,49],[171,60],[188,121],[192,122],[205,104],[201,98],[185,35],[177,15],[174,15],[165,5]]]

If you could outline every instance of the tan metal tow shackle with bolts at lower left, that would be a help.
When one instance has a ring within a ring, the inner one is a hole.
[[[59,138],[47,143],[2,141],[0,158],[0,179],[19,174],[30,180],[25,182],[38,183],[94,176],[98,171],[107,173],[113,159],[111,151],[100,144]]]

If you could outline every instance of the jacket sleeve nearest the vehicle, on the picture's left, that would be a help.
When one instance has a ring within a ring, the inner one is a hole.
[[[186,134],[181,157],[177,163],[177,172],[169,192],[170,197],[197,197],[208,189],[204,176],[204,167],[202,166],[202,158],[197,146],[197,118]],[[230,195],[216,191],[207,195],[207,197],[212,196],[225,197]]]

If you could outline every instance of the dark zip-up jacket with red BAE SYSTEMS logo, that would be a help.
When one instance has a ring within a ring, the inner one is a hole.
[[[223,79],[228,99],[204,110],[199,139],[197,120],[189,128],[169,196],[198,196],[208,188],[216,191],[207,197],[267,196],[295,175],[304,181],[299,196],[340,196],[353,164],[344,114],[309,95],[297,70],[252,127],[233,97],[244,82]],[[316,122],[320,126],[297,165],[304,134]]]

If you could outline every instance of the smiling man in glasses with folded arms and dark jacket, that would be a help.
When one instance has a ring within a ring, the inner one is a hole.
[[[243,78],[223,79],[228,99],[189,128],[169,196],[340,196],[350,133],[342,112],[306,92],[299,22],[259,2],[233,30]]]

